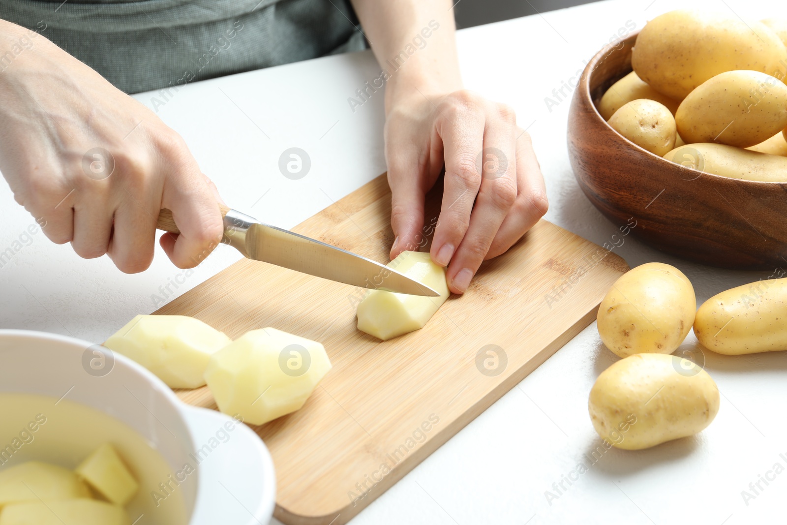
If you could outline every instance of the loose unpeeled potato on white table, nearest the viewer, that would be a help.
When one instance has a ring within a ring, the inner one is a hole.
[[[692,361],[638,353],[601,372],[588,409],[593,427],[612,446],[647,449],[708,427],[719,412],[719,389]]]

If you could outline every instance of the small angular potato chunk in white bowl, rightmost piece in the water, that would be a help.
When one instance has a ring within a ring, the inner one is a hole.
[[[115,505],[126,505],[139,490],[136,479],[109,443],[95,449],[74,471]]]

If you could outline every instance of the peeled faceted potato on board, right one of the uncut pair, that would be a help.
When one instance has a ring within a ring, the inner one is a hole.
[[[214,353],[205,381],[221,412],[261,425],[300,409],[329,370],[319,342],[268,327]]]

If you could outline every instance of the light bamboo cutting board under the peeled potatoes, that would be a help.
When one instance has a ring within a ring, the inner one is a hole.
[[[437,186],[427,225],[436,224]],[[388,261],[386,177],[294,231]],[[275,463],[275,516],[338,525],[586,327],[627,269],[615,253],[541,220],[426,327],[387,342],[356,328],[362,290],[245,259],[156,313],[194,316],[231,338],[271,326],[323,343],[333,368],[304,407],[253,430]],[[216,408],[207,387],[178,394]]]

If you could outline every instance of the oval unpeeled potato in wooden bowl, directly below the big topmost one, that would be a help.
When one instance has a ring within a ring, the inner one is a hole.
[[[787,86],[765,73],[724,72],[683,99],[675,122],[689,143],[756,146],[787,126]]]

